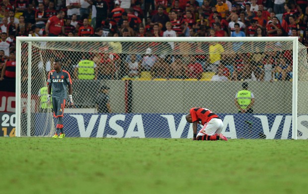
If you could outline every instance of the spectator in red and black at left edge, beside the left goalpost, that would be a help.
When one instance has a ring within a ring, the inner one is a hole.
[[[5,65],[1,71],[0,81],[3,79],[15,79],[16,77],[16,61],[15,61],[15,53],[9,53],[9,60],[5,62]]]

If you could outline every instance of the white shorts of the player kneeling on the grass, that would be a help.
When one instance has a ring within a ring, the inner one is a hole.
[[[220,118],[212,118],[208,123],[205,123],[203,128],[197,134],[202,135],[214,135],[215,133],[220,134],[223,130],[224,123]]]

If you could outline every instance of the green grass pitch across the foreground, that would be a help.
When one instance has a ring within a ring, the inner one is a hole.
[[[0,138],[1,194],[306,193],[306,140]]]

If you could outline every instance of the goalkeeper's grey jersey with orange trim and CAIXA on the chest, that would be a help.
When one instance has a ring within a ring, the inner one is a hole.
[[[68,92],[67,86],[72,85],[70,73],[64,70],[49,72],[47,85],[51,86],[52,97],[66,99]]]

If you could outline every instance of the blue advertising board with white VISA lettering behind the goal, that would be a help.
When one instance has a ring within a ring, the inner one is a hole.
[[[191,138],[192,125],[186,122],[185,115],[65,113],[64,126],[67,137]],[[218,115],[224,122],[223,133],[229,138],[292,138],[290,114]],[[38,113],[37,116],[43,115]],[[307,123],[308,116],[299,116],[300,125],[302,121]],[[36,127],[40,127],[40,123],[36,123]],[[307,126],[303,127],[307,131]]]

